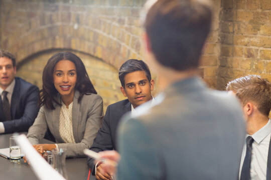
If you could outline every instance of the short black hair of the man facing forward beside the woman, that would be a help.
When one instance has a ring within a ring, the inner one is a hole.
[[[149,82],[152,80],[152,75],[149,69],[149,66],[143,61],[138,59],[129,59],[126,60],[119,68],[118,78],[120,80],[121,86],[125,88],[124,77],[127,73],[134,71],[144,71]]]

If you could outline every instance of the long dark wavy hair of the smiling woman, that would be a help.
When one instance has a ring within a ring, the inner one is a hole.
[[[89,76],[87,74],[86,68],[82,60],[72,52],[59,52],[54,54],[52,57],[49,58],[47,64],[43,69],[42,74],[42,89],[40,90],[40,102],[39,105],[45,106],[49,109],[55,109],[53,102],[58,105],[61,105],[57,99],[58,91],[55,88],[53,78],[53,72],[55,65],[60,60],[70,60],[76,66],[76,85],[75,89],[80,92],[80,96],[78,98],[78,102],[81,101],[84,94],[95,93],[97,94],[93,84],[91,83]]]

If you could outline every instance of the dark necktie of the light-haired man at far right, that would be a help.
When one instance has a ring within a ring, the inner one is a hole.
[[[251,161],[251,150],[252,150],[253,138],[251,136],[246,137],[246,153],[244,163],[242,166],[240,180],[250,179],[250,161]]]

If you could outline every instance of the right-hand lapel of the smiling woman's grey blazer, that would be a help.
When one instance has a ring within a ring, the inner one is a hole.
[[[73,130],[73,137],[76,143],[79,142],[78,137],[78,123],[80,119],[80,103],[78,103],[80,93],[75,90],[74,97],[73,97],[73,105],[72,105],[72,130]]]

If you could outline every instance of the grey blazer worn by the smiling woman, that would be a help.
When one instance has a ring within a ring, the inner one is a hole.
[[[75,91],[72,106],[72,128],[76,143],[65,143],[59,133],[60,105],[55,104],[55,109],[45,106],[40,108],[34,124],[29,128],[27,137],[32,144],[38,144],[50,129],[56,138],[59,148],[66,148],[68,157],[82,156],[83,149],[89,148],[101,127],[103,117],[103,103],[97,94],[84,94],[78,103],[79,91]],[[60,100],[60,99],[59,99]]]

